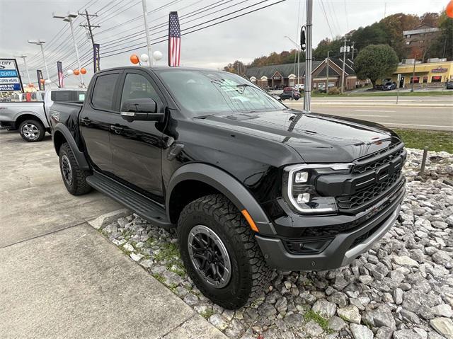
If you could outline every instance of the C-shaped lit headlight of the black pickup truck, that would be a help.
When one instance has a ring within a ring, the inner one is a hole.
[[[335,197],[316,193],[320,175],[350,173],[353,163],[319,163],[287,166],[284,169],[282,195],[289,207],[304,214],[337,212]]]

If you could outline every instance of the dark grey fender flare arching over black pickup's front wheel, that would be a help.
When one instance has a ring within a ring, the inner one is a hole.
[[[166,211],[170,219],[170,198],[173,188],[184,180],[197,180],[211,185],[225,195],[239,211],[246,209],[262,234],[275,234],[272,222],[269,221],[255,197],[245,186],[229,173],[206,163],[188,163],[178,168],[171,176],[166,194]]]

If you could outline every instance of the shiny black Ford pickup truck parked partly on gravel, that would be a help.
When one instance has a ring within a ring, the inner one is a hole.
[[[122,67],[52,106],[64,185],[176,227],[200,291],[228,309],[273,268],[348,265],[394,224],[406,150],[382,125],[292,110],[223,71]]]

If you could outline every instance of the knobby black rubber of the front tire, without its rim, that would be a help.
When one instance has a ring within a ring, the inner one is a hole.
[[[194,226],[204,225],[222,240],[231,262],[228,285],[216,288],[195,270],[188,251],[188,236]],[[178,244],[188,275],[198,289],[225,309],[239,309],[260,295],[272,270],[253,231],[238,209],[224,195],[206,195],[184,207],[178,220]]]

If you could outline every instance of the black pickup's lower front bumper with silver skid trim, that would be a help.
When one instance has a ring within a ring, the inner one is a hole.
[[[279,270],[332,270],[348,265],[360,253],[386,234],[394,225],[401,209],[405,189],[401,188],[386,207],[362,224],[343,231],[326,241],[321,253],[294,254],[285,246],[285,239],[256,234],[256,240],[270,267]],[[377,208],[377,207],[372,207]],[[322,226],[320,226],[322,228]]]

